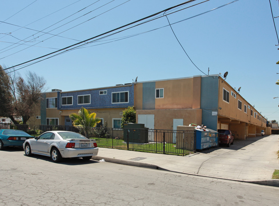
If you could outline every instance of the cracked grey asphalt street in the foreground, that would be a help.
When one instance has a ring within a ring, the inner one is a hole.
[[[0,151],[0,206],[277,205],[279,188],[94,160]]]

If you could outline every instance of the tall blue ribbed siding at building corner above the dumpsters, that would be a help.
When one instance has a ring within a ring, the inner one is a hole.
[[[201,81],[202,124],[212,130],[217,130],[218,116],[218,77],[202,77]]]

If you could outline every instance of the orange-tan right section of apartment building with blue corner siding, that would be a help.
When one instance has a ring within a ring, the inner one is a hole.
[[[266,130],[266,119],[219,75],[137,82],[135,108],[137,122],[148,128],[204,124],[230,129],[236,139]]]

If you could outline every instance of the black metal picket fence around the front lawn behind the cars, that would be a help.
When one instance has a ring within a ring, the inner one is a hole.
[[[23,130],[32,136],[62,130],[95,139],[99,147],[186,155],[196,151],[195,131],[136,128],[74,127],[63,125],[0,125],[0,129]]]

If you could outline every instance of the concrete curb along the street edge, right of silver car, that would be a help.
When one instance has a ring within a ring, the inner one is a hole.
[[[170,171],[170,172],[175,172],[175,173],[181,173],[181,172],[177,172],[177,171],[164,169],[164,168],[158,167],[157,165],[152,165],[152,164],[148,164],[148,163],[141,163],[141,162],[128,161],[128,160],[119,160],[119,159],[115,159],[115,158],[99,157],[99,156],[92,156],[91,159],[96,160],[96,161],[104,159],[106,162],[109,162],[109,163],[116,163],[116,164],[121,164],[121,165],[129,165],[129,166],[134,166],[134,167],[143,167],[143,168],[148,168],[148,169],[159,169],[159,170],[165,170],[165,171]],[[241,179],[230,179],[230,178],[224,178],[224,177],[216,177],[216,176],[210,176],[210,175],[200,175],[200,174],[186,173],[186,172],[182,172],[181,174],[193,175],[193,176],[198,176],[198,177],[210,177],[210,178],[216,178],[216,179],[223,179],[223,180],[230,180],[230,181],[237,181],[237,182],[253,183],[253,184],[258,184],[258,185],[279,187],[279,179],[241,180]]]

